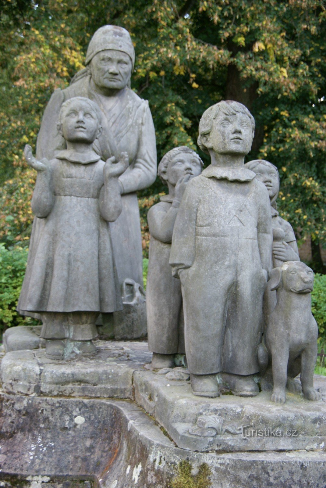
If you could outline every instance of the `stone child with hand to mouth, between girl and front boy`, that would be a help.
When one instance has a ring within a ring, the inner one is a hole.
[[[202,167],[198,154],[186,146],[169,151],[158,165],[158,175],[168,185],[169,193],[148,212],[151,242],[146,290],[147,328],[155,369],[173,367],[173,355],[184,352],[181,283],[172,276],[169,258],[183,192],[188,182],[201,173]]]

